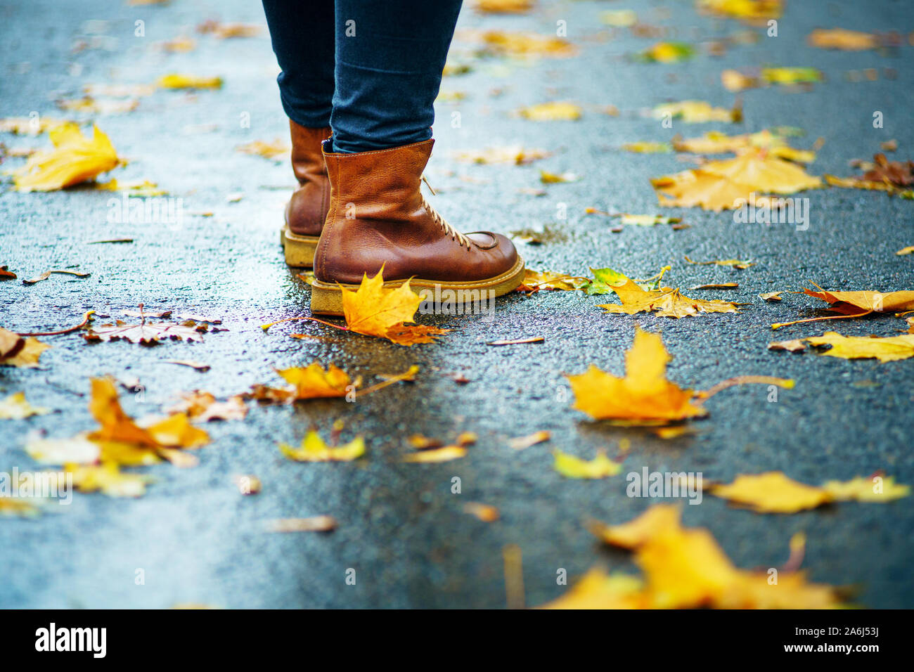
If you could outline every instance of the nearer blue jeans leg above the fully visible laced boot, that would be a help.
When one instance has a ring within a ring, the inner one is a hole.
[[[336,0],[336,152],[431,137],[462,0]]]

